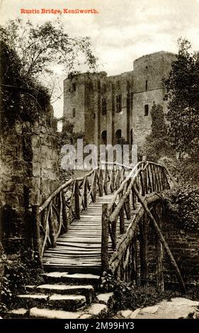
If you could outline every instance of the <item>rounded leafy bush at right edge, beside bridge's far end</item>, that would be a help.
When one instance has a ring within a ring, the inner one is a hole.
[[[164,193],[166,213],[178,227],[199,231],[199,188],[196,185],[181,185]]]

